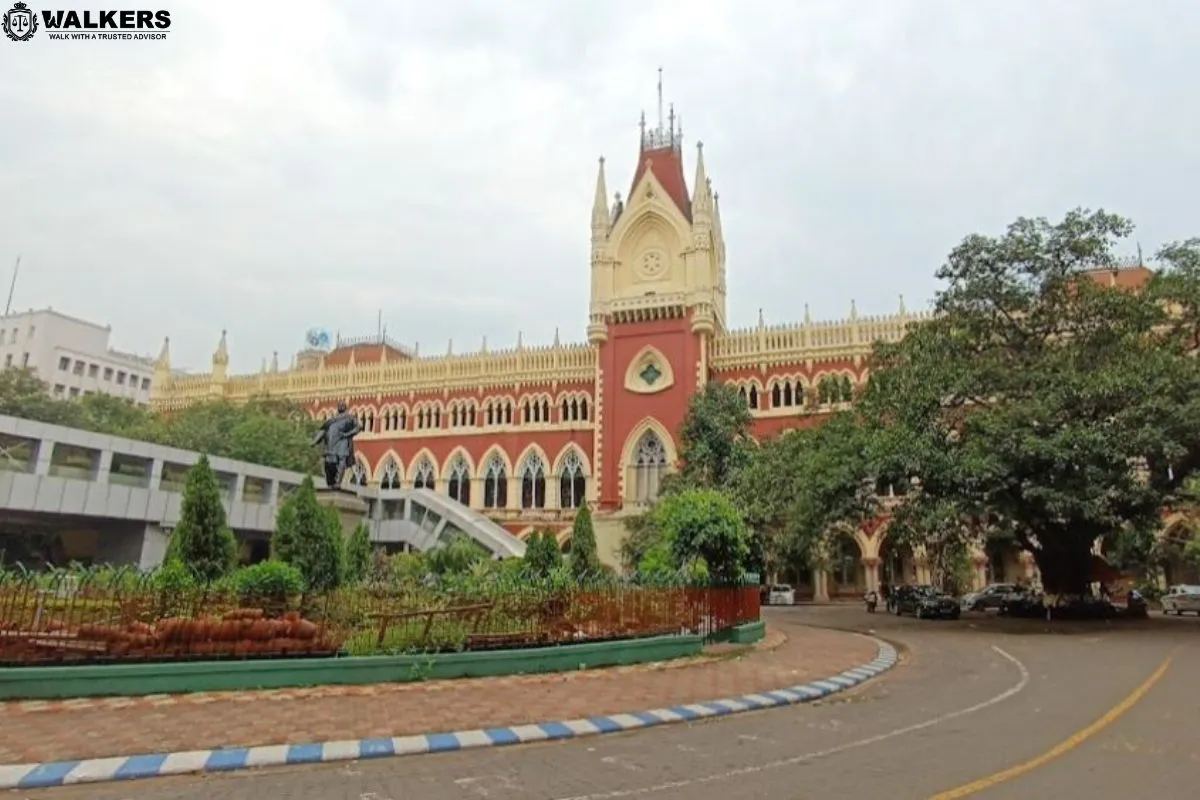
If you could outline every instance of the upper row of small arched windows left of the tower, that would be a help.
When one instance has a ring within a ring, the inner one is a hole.
[[[528,423],[550,423],[553,408],[550,397],[526,398],[520,407],[520,421]],[[586,395],[563,397],[558,407],[558,422],[587,422],[590,409]],[[512,425],[517,419],[517,405],[511,398],[500,397],[485,401],[476,405],[475,401],[454,401],[443,411],[440,405],[418,405],[412,413],[403,407],[384,407],[378,414],[373,409],[352,409],[359,426],[367,433],[391,433],[409,429],[412,417],[413,431],[430,431],[443,427],[443,420],[450,428],[474,428],[476,426]],[[318,419],[328,419],[329,409],[317,413]]]

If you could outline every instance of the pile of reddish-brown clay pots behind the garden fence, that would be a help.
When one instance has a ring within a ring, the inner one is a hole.
[[[236,608],[221,618],[172,618],[155,626],[80,625],[78,637],[106,642],[107,655],[115,657],[332,655],[337,646],[320,633],[298,612],[265,619],[262,608]]]

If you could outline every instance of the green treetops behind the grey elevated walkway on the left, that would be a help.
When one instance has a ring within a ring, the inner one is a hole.
[[[7,368],[0,371],[0,414],[305,474],[319,467],[311,445],[317,423],[300,405],[277,398],[216,401],[157,414],[108,395],[58,399],[30,369]]]

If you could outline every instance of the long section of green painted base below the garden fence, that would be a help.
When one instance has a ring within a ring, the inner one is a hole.
[[[347,658],[271,658],[88,667],[0,668],[0,700],[138,697],[256,688],[492,678],[695,656],[698,636],[660,636],[553,648]]]

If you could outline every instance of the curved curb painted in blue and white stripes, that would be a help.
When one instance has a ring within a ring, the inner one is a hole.
[[[474,747],[499,747],[534,741],[577,739],[604,733],[635,730],[673,722],[691,722],[742,711],[769,709],[797,703],[811,703],[875,678],[896,664],[895,648],[875,639],[878,655],[844,673],[772,692],[743,694],[708,703],[676,705],[638,714],[614,714],[566,722],[542,722],[511,728],[487,728],[458,733],[433,733],[392,739],[359,739],[310,745],[269,745],[264,747],[228,747],[193,750],[180,753],[119,756],[47,764],[10,764],[0,766],[0,789],[40,789],[74,783],[127,781],[194,772],[228,772],[256,766],[290,766],[349,762],[389,756],[444,753]]]

